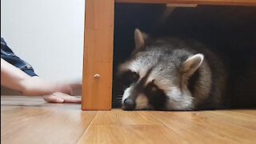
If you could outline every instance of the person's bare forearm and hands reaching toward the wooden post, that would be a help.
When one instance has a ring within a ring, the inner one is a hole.
[[[1,85],[22,91],[24,95],[46,95],[44,99],[47,102],[81,102],[80,98],[70,96],[73,90],[69,84],[46,82],[39,77],[30,77],[2,58]]]

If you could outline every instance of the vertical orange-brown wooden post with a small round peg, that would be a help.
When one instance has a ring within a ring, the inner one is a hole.
[[[111,110],[114,0],[86,0],[82,110]]]

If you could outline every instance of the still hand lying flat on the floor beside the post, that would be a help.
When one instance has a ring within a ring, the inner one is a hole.
[[[55,92],[50,95],[46,95],[43,97],[46,102],[56,102],[56,103],[81,103],[81,98],[75,98],[70,96],[69,94],[64,94],[61,92]]]

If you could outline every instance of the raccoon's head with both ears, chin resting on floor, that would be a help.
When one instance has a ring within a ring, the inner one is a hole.
[[[202,54],[185,60],[175,57],[178,50],[139,50],[146,35],[135,30],[136,50],[130,60],[119,66],[124,110],[192,110],[193,97],[187,79],[201,65]],[[172,57],[173,56],[173,57]]]

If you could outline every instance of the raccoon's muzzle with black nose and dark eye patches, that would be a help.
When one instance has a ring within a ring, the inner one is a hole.
[[[164,109],[167,99],[166,94],[154,84],[154,81],[146,84],[149,74],[150,71],[143,78],[140,78],[139,74],[131,70],[122,74],[122,84],[126,86],[126,92],[122,98],[124,110]]]

